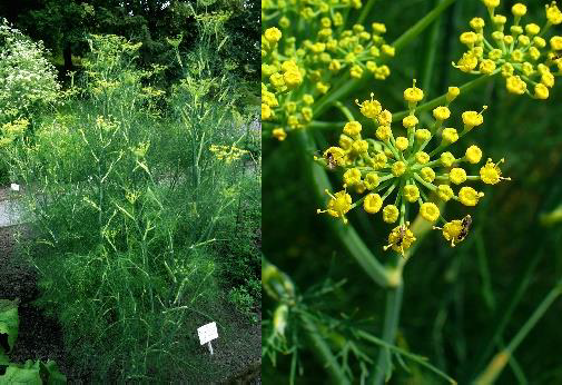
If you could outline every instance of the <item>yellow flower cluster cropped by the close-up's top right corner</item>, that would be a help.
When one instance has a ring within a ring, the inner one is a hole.
[[[500,0],[482,0],[486,6],[493,31],[484,34],[485,21],[474,18],[473,31],[461,33],[460,40],[467,47],[462,58],[453,63],[463,72],[493,75],[501,72],[507,91],[526,93],[535,99],[546,99],[554,86],[553,71],[562,73],[562,37],[544,38],[551,26],[562,23],[562,12],[553,1],[546,4],[546,24],[521,24],[526,13],[523,3],[512,7],[513,24],[507,28],[507,18],[495,13]]]

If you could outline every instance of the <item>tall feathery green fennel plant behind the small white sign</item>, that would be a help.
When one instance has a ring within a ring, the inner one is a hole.
[[[186,358],[194,330],[220,317],[213,246],[240,190],[235,85],[186,61],[162,110],[149,83],[161,68],[135,68],[139,45],[91,36],[90,47],[71,115],[43,121],[11,157],[34,188],[38,303],[96,381],[193,378],[205,371]]]

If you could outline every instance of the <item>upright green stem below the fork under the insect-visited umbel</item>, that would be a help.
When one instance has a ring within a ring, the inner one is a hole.
[[[386,294],[386,307],[384,312],[383,340],[390,345],[394,345],[396,329],[398,328],[400,310],[402,307],[402,296],[404,286],[400,284],[396,288],[388,290]],[[381,349],[376,362],[374,377],[372,384],[384,384],[391,377],[392,373],[392,356],[387,347]]]

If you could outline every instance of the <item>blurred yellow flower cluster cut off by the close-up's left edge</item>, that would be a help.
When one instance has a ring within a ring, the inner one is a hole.
[[[394,56],[383,38],[386,27],[374,22],[368,29],[345,29],[344,8],[361,8],[361,1],[263,2],[262,119],[272,124],[278,140],[313,120],[315,102],[336,77],[369,73],[384,80],[391,73],[382,65]]]

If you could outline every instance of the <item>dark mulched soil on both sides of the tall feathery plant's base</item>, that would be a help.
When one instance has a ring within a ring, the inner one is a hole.
[[[8,197],[7,189],[0,189],[0,200]],[[33,268],[17,257],[14,235],[23,233],[24,227],[11,226],[0,228],[0,298],[20,299],[19,336],[10,358],[16,363],[26,359],[53,359],[69,384],[89,383],[88,374],[77,371],[66,359],[62,330],[56,319],[47,317],[41,309],[33,306],[39,292],[37,289],[37,274]],[[224,376],[219,384],[262,384],[260,381],[260,323],[250,323],[231,312],[230,327],[236,335],[244,338],[220,338],[213,343],[215,355],[209,359],[217,361],[228,376]],[[203,348],[203,347],[201,347]],[[198,381],[198,384],[205,382]]]

